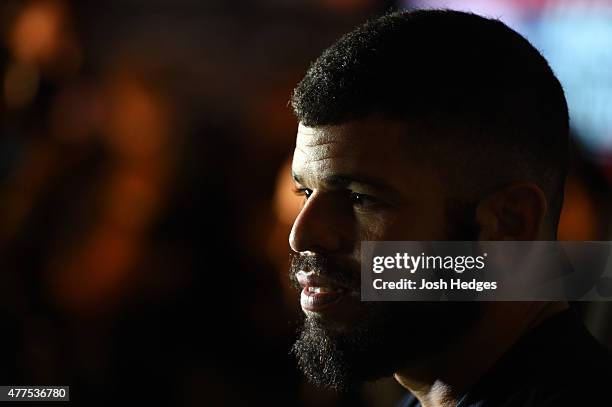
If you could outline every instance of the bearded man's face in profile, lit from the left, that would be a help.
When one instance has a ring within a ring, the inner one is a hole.
[[[389,375],[475,318],[469,304],[360,301],[361,241],[475,238],[458,227],[466,219],[449,218],[436,163],[410,138],[406,123],[379,116],[298,128],[292,171],[304,205],[289,237],[290,275],[305,323],[293,350],[315,383]]]

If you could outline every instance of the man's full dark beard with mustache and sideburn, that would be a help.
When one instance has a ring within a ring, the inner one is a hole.
[[[466,221],[466,210],[469,214],[471,207],[453,206],[447,212],[448,240],[476,239],[473,212]],[[300,270],[359,292],[360,269],[354,262],[321,254],[292,255],[290,279],[301,289],[296,279]],[[469,331],[481,312],[477,302],[361,302],[359,307],[362,317],[342,329],[316,314],[304,316],[291,352],[311,383],[347,392],[421,364]]]

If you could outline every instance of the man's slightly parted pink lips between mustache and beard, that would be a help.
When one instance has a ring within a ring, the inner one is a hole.
[[[347,287],[313,272],[299,271],[296,277],[302,287],[300,305],[304,311],[324,312],[338,304],[349,292]]]

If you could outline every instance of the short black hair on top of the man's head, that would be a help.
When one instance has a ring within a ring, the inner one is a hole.
[[[540,52],[499,20],[453,10],[370,20],[311,64],[291,106],[309,127],[372,113],[418,124],[438,151],[448,145],[447,155],[461,156],[457,165],[478,168],[477,181],[537,183],[556,230],[569,165],[563,88]]]

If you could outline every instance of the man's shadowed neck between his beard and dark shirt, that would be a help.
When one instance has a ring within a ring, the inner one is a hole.
[[[486,307],[474,329],[445,351],[394,374],[423,407],[456,406],[461,396],[519,338],[568,305],[565,302],[491,302]]]

